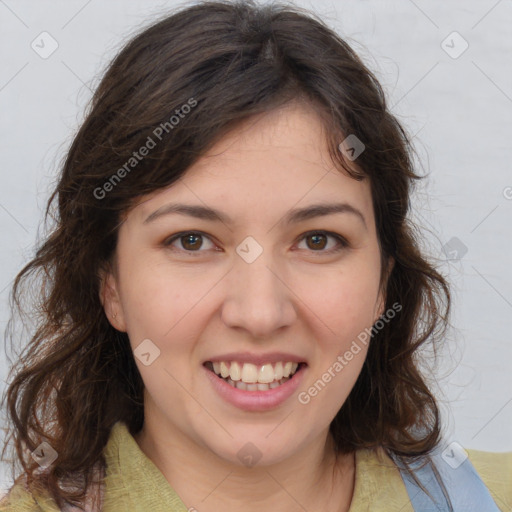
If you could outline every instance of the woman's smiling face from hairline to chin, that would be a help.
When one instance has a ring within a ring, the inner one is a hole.
[[[313,110],[225,136],[127,214],[116,258],[104,304],[135,351],[146,424],[236,464],[325,439],[383,298],[369,183],[330,163]]]

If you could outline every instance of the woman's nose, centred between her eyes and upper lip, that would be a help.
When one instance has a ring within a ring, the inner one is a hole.
[[[294,323],[293,287],[278,268],[266,251],[252,263],[235,257],[222,307],[227,326],[244,329],[253,338],[268,338]]]

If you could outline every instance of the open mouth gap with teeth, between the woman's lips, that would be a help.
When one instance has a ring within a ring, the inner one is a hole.
[[[292,379],[306,363],[278,362],[263,365],[251,363],[212,362],[204,366],[219,379],[243,391],[268,391]]]

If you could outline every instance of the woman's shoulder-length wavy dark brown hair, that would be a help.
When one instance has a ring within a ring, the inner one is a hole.
[[[191,99],[194,108],[129,174],[114,179]],[[45,220],[53,225],[15,279],[11,307],[22,311],[24,297],[35,294],[35,329],[4,397],[4,452],[14,447],[30,489],[46,489],[59,506],[79,504],[93,468],[104,467],[112,426],[122,421],[132,434],[142,427],[143,382],[127,334],[111,326],[100,301],[101,271],[112,262],[123,214],[142,195],[176,182],[241,121],[297,99],[322,119],[340,172],[370,181],[382,268],[394,260],[382,273],[386,309],[402,305],[372,336],[330,426],[336,451],[381,446],[415,457],[439,442],[439,409],[417,350],[443,341],[450,293],[408,219],[421,177],[409,136],[374,74],[316,15],[285,4],[201,2],[143,29],[109,64],[48,200]],[[366,147],[357,166],[338,147],[347,134]],[[58,452],[44,473],[29,455],[41,440]],[[64,480],[75,488],[63,488]]]

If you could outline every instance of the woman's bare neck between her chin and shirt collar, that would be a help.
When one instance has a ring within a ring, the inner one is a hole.
[[[336,456],[328,430],[286,460],[251,468],[199,446],[179,429],[146,421],[135,437],[190,510],[347,512],[355,479],[354,454]]]

